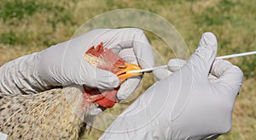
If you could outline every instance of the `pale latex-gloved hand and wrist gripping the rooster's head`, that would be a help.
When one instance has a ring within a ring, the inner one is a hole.
[[[98,29],[4,64],[0,68],[0,91],[29,94],[73,83],[101,89],[118,87],[117,76],[91,66],[83,58],[88,48],[100,42],[128,63],[143,68],[154,64],[152,48],[142,30]],[[141,77],[125,81],[118,98],[128,97],[140,81]]]

